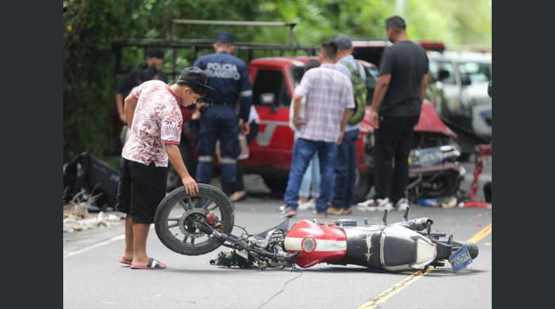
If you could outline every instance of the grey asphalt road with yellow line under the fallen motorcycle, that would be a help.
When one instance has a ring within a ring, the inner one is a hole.
[[[469,188],[472,164],[461,188]],[[235,224],[249,233],[277,225],[281,218],[279,198],[265,195],[261,178],[246,178],[252,195],[236,204]],[[480,184],[491,180],[491,160]],[[214,182],[217,185],[217,182]],[[483,193],[478,192],[478,198]],[[391,212],[389,222],[400,220]],[[433,229],[467,240],[492,222],[492,209],[439,209],[412,206],[410,218],[425,216]],[[299,212],[291,223],[313,219]],[[379,223],[381,213],[353,211]],[[123,225],[77,233],[64,233],[64,308],[491,308],[492,235],[479,239],[480,253],[468,268],[456,275],[448,266],[426,275],[389,273],[348,265],[315,265],[302,272],[242,270],[209,265],[219,249],[204,256],[182,256],[167,249],[151,229],[148,254],[168,264],[166,270],[131,270],[117,262],[124,246]],[[240,231],[234,230],[240,234]],[[226,249],[221,247],[221,250]]]

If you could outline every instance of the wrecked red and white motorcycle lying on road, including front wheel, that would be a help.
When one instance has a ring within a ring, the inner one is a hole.
[[[251,235],[232,234],[233,203],[221,190],[199,184],[191,196],[183,187],[159,204],[155,230],[169,249],[190,256],[207,254],[226,246],[210,261],[213,265],[240,268],[309,268],[318,263],[362,265],[375,270],[400,272],[444,266],[449,261],[458,272],[478,256],[478,246],[453,240],[452,235],[432,232],[429,218],[408,220],[409,209],[398,223],[382,222],[358,226],[354,220],[327,224],[302,220],[289,229],[289,219]]]

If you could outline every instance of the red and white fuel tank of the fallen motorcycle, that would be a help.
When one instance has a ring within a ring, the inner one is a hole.
[[[285,250],[300,252],[295,263],[309,268],[318,263],[340,261],[347,252],[344,230],[327,225],[318,225],[303,220],[296,223],[285,236]]]

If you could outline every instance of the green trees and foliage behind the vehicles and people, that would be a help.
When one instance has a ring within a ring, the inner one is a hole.
[[[296,22],[301,45],[318,45],[339,33],[384,38],[384,20],[395,8],[394,0],[65,0],[64,161],[83,151],[105,158],[118,81],[112,39],[170,39],[172,31],[179,38],[206,39],[227,30],[237,41],[289,43],[285,28],[172,27],[174,19]],[[491,0],[407,0],[403,17],[412,39],[490,46],[491,9]],[[190,65],[190,58],[189,51],[180,51],[178,70]],[[131,70],[141,60],[142,48],[124,48],[123,68]],[[171,71],[170,61],[164,70]]]

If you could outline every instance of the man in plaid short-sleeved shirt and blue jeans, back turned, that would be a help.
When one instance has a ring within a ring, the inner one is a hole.
[[[325,41],[320,46],[320,67],[308,70],[293,96],[293,122],[299,136],[293,145],[293,158],[285,191],[285,217],[296,215],[301,180],[308,162],[318,151],[320,159],[320,197],[316,201],[318,217],[327,216],[332,192],[337,145],[341,143],[348,120],[348,110],[355,107],[353,85],[334,63],[337,44]],[[305,117],[299,118],[301,99],[306,97]]]

